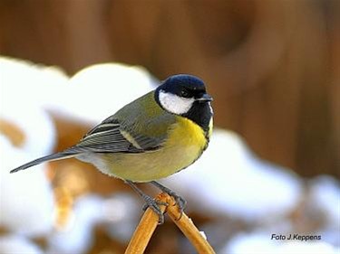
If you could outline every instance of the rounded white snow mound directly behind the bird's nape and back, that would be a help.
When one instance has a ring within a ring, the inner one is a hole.
[[[156,88],[141,67],[118,63],[92,65],[76,73],[67,89],[68,101],[57,109],[94,123],[110,117],[132,100]]]

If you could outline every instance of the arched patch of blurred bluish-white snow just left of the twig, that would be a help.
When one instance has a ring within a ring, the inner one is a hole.
[[[84,195],[74,204],[72,219],[61,230],[55,230],[49,240],[50,253],[86,253],[92,246],[92,230],[106,223],[112,238],[126,243],[138,223],[141,207],[129,194],[117,193],[109,198]]]

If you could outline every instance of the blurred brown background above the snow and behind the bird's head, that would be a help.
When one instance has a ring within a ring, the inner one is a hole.
[[[196,74],[217,126],[304,176],[340,176],[339,31],[337,0],[0,1],[1,54]]]

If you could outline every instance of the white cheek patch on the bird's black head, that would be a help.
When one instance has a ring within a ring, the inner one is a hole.
[[[195,101],[193,98],[183,98],[163,90],[160,90],[159,99],[161,107],[176,115],[188,113]]]

